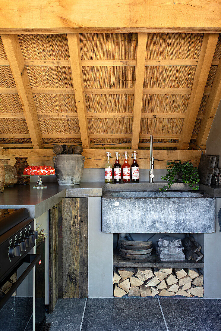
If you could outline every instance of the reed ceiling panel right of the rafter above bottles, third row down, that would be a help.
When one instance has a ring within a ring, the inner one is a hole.
[[[189,94],[143,94],[142,113],[185,114]]]

